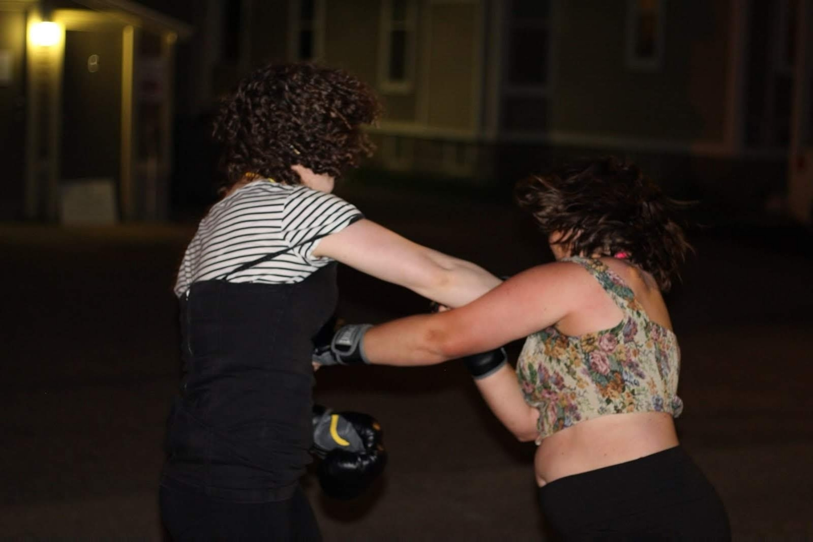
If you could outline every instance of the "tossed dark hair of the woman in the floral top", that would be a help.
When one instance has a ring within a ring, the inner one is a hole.
[[[692,249],[673,218],[683,204],[666,197],[640,167],[615,157],[582,159],[515,187],[515,199],[546,236],[572,254],[627,258],[667,292]]]

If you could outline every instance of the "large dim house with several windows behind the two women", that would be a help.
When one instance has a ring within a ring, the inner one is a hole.
[[[811,2],[202,0],[185,102],[313,60],[380,93],[377,167],[511,183],[624,154],[672,192],[809,223]]]

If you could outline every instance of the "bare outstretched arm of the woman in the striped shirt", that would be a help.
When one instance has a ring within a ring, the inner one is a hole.
[[[472,262],[418,245],[367,219],[324,237],[313,254],[451,307],[463,306],[501,283]]]

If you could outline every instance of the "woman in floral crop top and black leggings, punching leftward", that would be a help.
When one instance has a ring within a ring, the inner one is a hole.
[[[493,413],[536,441],[542,514],[565,540],[729,540],[724,505],[673,422],[680,350],[662,292],[690,249],[673,202],[615,158],[532,176],[515,193],[555,262],[457,309],[344,327],[319,361],[466,356]],[[520,338],[515,371],[500,347]]]

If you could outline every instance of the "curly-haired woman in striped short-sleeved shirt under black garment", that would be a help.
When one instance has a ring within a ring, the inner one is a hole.
[[[370,152],[362,126],[378,113],[361,81],[311,64],[260,68],[220,106],[227,181],[175,286],[184,375],[159,494],[175,540],[320,540],[298,483],[311,446],[359,450],[328,472],[339,486],[383,467],[375,423],[312,408],[311,352],[337,303],[336,262],[447,306],[500,283],[333,195]]]

